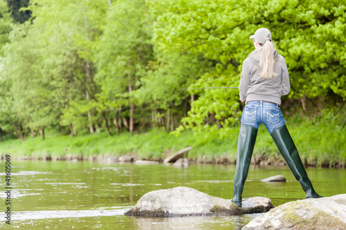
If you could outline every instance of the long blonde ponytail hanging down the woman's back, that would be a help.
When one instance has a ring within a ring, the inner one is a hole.
[[[274,49],[274,44],[268,37],[264,42],[264,46],[261,48],[262,54],[260,57],[260,76],[266,79],[271,79],[276,76],[276,73],[274,73]]]

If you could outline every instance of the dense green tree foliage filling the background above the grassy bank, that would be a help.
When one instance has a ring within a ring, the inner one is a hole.
[[[0,0],[0,15],[0,127],[22,142],[45,128],[227,135],[237,90],[179,88],[238,86],[261,27],[289,66],[286,104],[346,99],[341,0]]]

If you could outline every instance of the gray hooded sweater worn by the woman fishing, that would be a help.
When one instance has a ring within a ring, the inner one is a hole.
[[[250,102],[263,100],[281,104],[281,95],[289,94],[289,71],[284,57],[274,51],[274,73],[272,79],[260,76],[260,57],[262,50],[255,51],[253,55],[243,62],[242,76],[239,84],[239,95],[242,101]]]

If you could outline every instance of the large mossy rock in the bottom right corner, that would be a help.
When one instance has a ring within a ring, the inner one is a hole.
[[[282,204],[243,228],[250,229],[346,229],[346,194]]]

